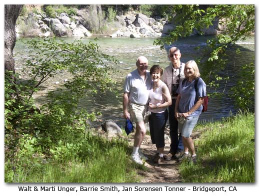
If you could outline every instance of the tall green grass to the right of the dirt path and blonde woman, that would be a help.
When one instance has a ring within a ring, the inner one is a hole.
[[[183,182],[254,183],[254,114],[243,113],[223,122],[198,125],[197,164],[183,162]],[[194,131],[194,132],[195,132]]]

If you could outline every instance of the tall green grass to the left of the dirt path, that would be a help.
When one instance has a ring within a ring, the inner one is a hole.
[[[64,159],[48,160],[40,170],[21,171],[26,183],[133,183],[136,165],[129,159],[129,146],[122,139],[88,136],[82,146]]]

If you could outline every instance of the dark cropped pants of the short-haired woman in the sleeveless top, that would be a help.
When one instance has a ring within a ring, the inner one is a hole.
[[[168,119],[167,109],[163,113],[152,113],[149,117],[149,129],[152,144],[156,148],[164,147],[164,128]]]

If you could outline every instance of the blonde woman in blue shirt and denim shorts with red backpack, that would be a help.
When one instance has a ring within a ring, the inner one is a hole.
[[[187,158],[188,151],[190,151],[191,159],[195,163],[196,153],[190,135],[202,111],[202,103],[204,97],[206,97],[206,84],[199,78],[200,73],[194,60],[186,62],[184,76],[185,79],[177,89],[175,117],[179,122],[179,132],[184,146],[183,158]],[[196,89],[194,86],[195,79],[198,79]]]

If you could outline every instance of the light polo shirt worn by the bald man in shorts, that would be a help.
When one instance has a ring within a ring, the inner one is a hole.
[[[146,71],[145,80],[140,77],[137,69],[127,74],[124,93],[129,93],[129,102],[137,105],[147,104],[151,82],[149,71]]]

